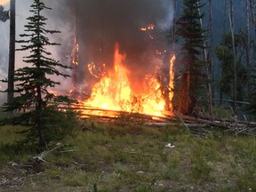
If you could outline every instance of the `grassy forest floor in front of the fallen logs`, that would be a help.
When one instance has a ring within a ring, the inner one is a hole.
[[[38,162],[22,129],[0,127],[0,191],[256,191],[255,137],[86,121]]]

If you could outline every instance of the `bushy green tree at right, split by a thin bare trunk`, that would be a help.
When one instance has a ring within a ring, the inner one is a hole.
[[[237,74],[237,84],[236,84],[236,94],[238,100],[244,100],[244,92],[246,92],[247,84],[247,71],[244,68],[243,63],[246,62],[246,52],[245,52],[245,41],[244,32],[240,31],[235,34],[235,52],[236,52],[236,74]],[[233,98],[234,94],[234,67],[233,67],[233,51],[232,51],[232,37],[231,33],[224,34],[222,36],[220,45],[216,47],[215,50],[217,58],[220,60],[220,68],[222,70],[220,76],[220,92],[223,92],[229,98]]]

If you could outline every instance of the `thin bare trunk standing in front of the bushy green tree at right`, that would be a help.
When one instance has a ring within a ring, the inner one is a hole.
[[[230,0],[230,12],[229,12],[229,21],[230,21],[230,30],[232,36],[232,47],[233,47],[233,67],[234,67],[234,87],[233,87],[233,110],[236,114],[236,87],[237,87],[237,76],[236,76],[236,50],[235,50],[235,36],[234,36],[234,14],[233,14],[233,0]]]

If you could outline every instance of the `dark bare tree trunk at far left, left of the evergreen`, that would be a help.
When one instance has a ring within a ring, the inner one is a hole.
[[[11,103],[13,100],[14,91],[14,69],[15,69],[15,2],[11,0],[10,10],[10,47],[9,47],[9,68],[8,68],[8,92],[7,92],[7,103]]]

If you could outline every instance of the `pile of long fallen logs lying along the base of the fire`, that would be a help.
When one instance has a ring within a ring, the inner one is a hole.
[[[96,119],[100,121],[119,121],[124,123],[143,123],[147,125],[183,125],[188,132],[202,127],[221,128],[226,132],[234,132],[235,134],[256,135],[256,122],[244,122],[225,119],[203,119],[195,116],[184,116],[174,112],[174,115],[166,114],[164,116],[151,116],[147,114],[132,113],[118,110],[109,110],[102,108],[92,108],[79,104],[54,103],[60,110],[72,110],[78,113],[78,117],[82,119]]]

